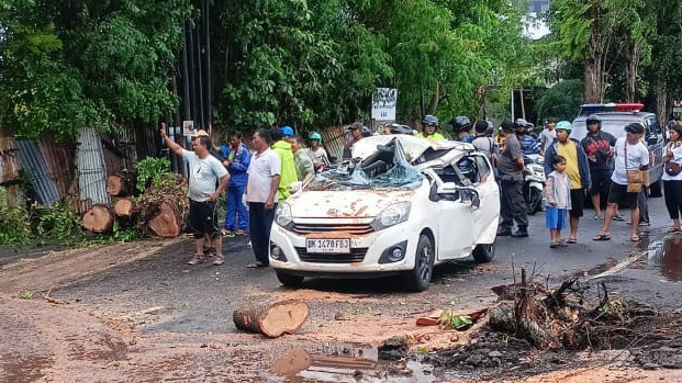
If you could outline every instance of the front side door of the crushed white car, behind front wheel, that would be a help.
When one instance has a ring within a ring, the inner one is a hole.
[[[461,173],[452,165],[446,166],[435,180],[434,189],[445,182],[465,185]],[[451,192],[434,196],[432,214],[438,223],[436,233],[437,259],[447,260],[467,257],[473,247],[471,225],[471,201],[465,201],[460,193]]]

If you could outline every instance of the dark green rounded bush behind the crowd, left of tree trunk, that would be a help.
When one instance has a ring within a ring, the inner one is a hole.
[[[582,103],[582,81],[563,80],[537,95],[538,121],[550,116],[572,121]]]

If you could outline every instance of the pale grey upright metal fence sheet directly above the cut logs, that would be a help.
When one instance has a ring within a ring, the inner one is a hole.
[[[107,168],[102,142],[99,133],[93,128],[83,127],[78,133],[76,167],[78,168],[80,199],[90,199],[96,204],[109,204],[111,199],[107,193]]]

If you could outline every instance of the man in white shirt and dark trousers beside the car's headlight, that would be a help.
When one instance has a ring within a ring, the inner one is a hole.
[[[249,268],[265,268],[270,246],[270,228],[277,210],[279,179],[282,164],[279,156],[270,149],[270,132],[258,129],[254,133],[253,146],[256,150],[248,165],[246,202],[248,203],[248,228],[256,262]]]

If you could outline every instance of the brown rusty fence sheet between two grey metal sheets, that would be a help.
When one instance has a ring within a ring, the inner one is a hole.
[[[52,180],[57,187],[60,198],[69,196],[71,183],[76,179],[76,166],[74,157],[76,148],[74,145],[57,144],[51,134],[43,136],[38,140],[38,147],[49,169]]]

